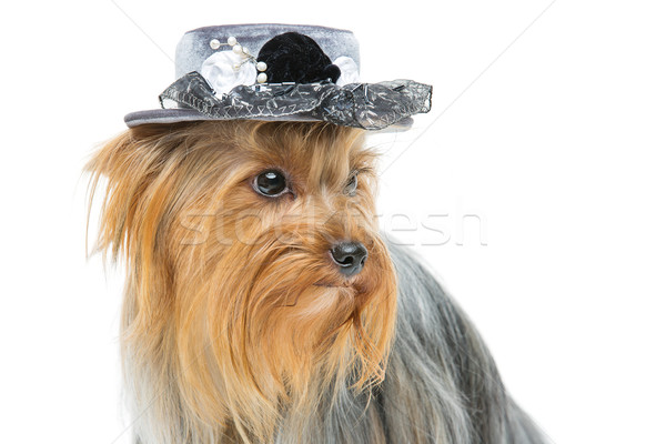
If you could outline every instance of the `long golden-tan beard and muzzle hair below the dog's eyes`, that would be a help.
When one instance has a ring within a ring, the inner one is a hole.
[[[326,387],[381,381],[395,316],[383,242],[363,231],[370,259],[343,279],[325,254],[341,236],[330,218],[309,230],[302,221],[245,226],[259,233],[241,241],[238,222],[234,233],[219,223],[235,211],[220,214],[175,265],[180,387],[196,416],[231,418],[248,438],[268,440],[281,406],[311,412]]]

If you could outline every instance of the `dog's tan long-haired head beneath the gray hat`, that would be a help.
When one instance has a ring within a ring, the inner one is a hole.
[[[125,370],[168,375],[186,421],[265,438],[285,406],[383,379],[396,282],[362,131],[143,125],[88,167],[98,246],[128,264]]]

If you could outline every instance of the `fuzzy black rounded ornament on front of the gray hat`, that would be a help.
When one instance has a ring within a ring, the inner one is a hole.
[[[335,83],[341,73],[314,40],[299,32],[275,36],[261,48],[256,60],[266,63],[269,83]]]

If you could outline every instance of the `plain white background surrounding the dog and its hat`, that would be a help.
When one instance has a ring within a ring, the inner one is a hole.
[[[158,104],[184,31],[287,22],[352,29],[364,80],[434,85],[381,140],[385,228],[554,442],[666,443],[663,1],[436,3],[3,3],[0,441],[129,443],[122,275],[85,261],[81,168]]]

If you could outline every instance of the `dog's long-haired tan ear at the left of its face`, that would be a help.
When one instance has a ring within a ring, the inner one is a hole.
[[[91,253],[124,260],[130,278],[123,340],[141,335],[147,346],[160,343],[159,332],[170,310],[172,266],[164,236],[173,214],[179,152],[184,151],[186,133],[173,125],[138,127],[102,145],[85,165],[90,173],[89,225],[93,203],[95,213],[99,209]],[[95,199],[95,193],[101,199]]]

